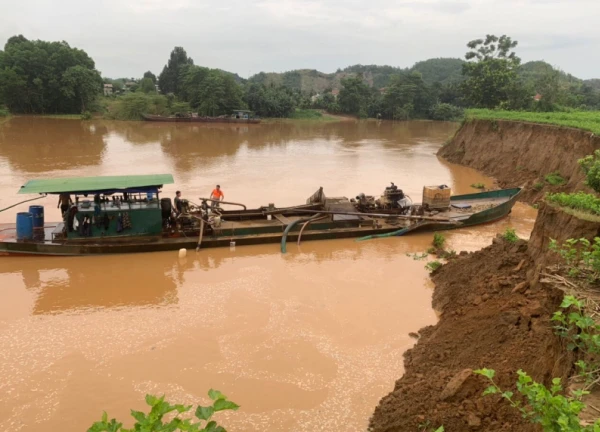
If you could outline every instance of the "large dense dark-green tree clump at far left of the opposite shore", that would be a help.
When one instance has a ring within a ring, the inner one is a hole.
[[[101,89],[94,61],[66,42],[19,35],[0,51],[0,101],[13,113],[81,113]]]

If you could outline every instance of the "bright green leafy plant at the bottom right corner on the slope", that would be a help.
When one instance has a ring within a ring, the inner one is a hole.
[[[552,380],[550,389],[533,379],[522,370],[517,371],[517,390],[521,393],[527,403],[522,404],[516,400],[511,391],[502,391],[494,382],[496,372],[493,369],[478,369],[474,373],[486,377],[491,385],[484,391],[484,395],[500,394],[510,405],[518,409],[523,418],[532,423],[542,426],[545,432],[598,432],[600,431],[600,420],[593,425],[582,426],[579,422],[579,414],[585,408],[581,398],[589,392],[583,390],[573,391],[573,397],[560,394],[563,388],[560,378]]]

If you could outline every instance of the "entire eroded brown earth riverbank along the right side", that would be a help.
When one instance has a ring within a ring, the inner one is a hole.
[[[519,369],[546,386],[557,377],[569,388],[577,359],[555,334],[551,318],[564,287],[575,285],[556,283],[564,280],[555,267],[561,259],[549,245],[551,239],[592,240],[600,224],[542,198],[547,191],[587,191],[577,160],[598,148],[600,139],[587,131],[474,119],[440,149],[439,157],[494,176],[501,187],[523,186],[522,199],[540,210],[528,241],[499,236],[432,274],[439,322],[419,331],[405,355],[404,375],[375,409],[371,431],[433,431],[442,425],[446,432],[540,430],[500,396],[483,396],[489,382],[472,370],[496,370],[497,384],[515,394]]]

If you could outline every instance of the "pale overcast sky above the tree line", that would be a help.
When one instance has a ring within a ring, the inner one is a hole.
[[[0,0],[0,11],[0,46],[66,40],[113,78],[158,74],[174,46],[248,77],[462,58],[487,33],[518,40],[524,62],[600,78],[600,0]]]

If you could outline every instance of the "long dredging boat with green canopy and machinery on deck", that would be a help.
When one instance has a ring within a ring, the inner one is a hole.
[[[398,189],[391,187],[386,188],[391,195],[386,192],[385,199],[365,207],[360,199],[327,197],[321,187],[292,207],[248,209],[198,198],[199,204],[182,200],[177,211],[170,198],[160,196],[163,186],[172,183],[170,174],[30,180],[19,194],[68,193],[74,202],[62,221],[45,223],[43,207],[32,206],[30,212],[17,213],[16,224],[0,225],[0,255],[79,256],[263,243],[281,243],[285,252],[287,241],[373,238],[493,222],[510,213],[521,192],[450,196],[447,187],[426,187],[424,202],[413,204],[397,200]],[[443,202],[431,201],[432,190],[433,198]]]

